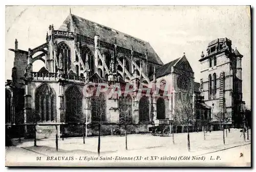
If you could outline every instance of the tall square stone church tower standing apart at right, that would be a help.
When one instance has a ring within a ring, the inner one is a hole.
[[[242,66],[243,55],[231,47],[231,40],[220,38],[209,42],[206,55],[202,52],[201,95],[211,107],[211,120],[223,112],[229,125],[242,123]]]

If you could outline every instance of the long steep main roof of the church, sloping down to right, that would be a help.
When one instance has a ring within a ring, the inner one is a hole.
[[[135,52],[145,54],[147,51],[148,61],[163,65],[163,62],[151,47],[149,42],[133,37],[131,35],[119,32],[109,27],[92,22],[88,19],[70,14],[61,27],[61,31],[76,32],[80,35],[94,38],[95,35],[100,36],[100,40],[108,42],[109,44],[116,44],[119,47],[131,50]]]

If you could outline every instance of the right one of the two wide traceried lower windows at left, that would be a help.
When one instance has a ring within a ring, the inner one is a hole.
[[[80,90],[71,86],[65,93],[66,96],[66,122],[79,122],[83,120],[82,94]]]

